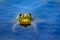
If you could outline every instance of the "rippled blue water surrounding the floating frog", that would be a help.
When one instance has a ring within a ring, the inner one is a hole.
[[[10,23],[11,20],[28,12],[34,18],[46,20],[36,24],[38,34],[32,26],[17,25],[16,31],[12,32],[14,23]],[[60,3],[47,0],[0,1],[0,40],[60,40]]]

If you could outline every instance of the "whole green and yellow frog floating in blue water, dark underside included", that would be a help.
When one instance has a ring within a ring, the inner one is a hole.
[[[33,18],[30,13],[28,13],[27,15],[21,13],[18,17],[18,21],[21,26],[28,27],[31,25]]]

